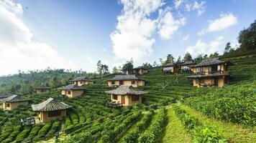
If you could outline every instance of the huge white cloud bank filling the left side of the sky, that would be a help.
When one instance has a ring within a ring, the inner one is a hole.
[[[0,75],[19,69],[68,68],[76,66],[60,57],[51,46],[33,41],[33,34],[20,18],[22,5],[0,1]]]

